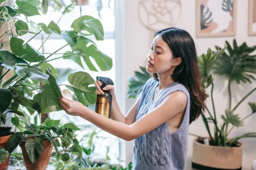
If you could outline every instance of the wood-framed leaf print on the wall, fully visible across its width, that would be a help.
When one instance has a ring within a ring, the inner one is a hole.
[[[196,0],[196,37],[236,35],[236,0]]]

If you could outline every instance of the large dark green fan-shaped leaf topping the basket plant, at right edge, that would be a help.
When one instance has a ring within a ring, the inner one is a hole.
[[[214,73],[226,76],[230,82],[236,81],[238,84],[242,81],[244,83],[255,80],[253,74],[256,74],[256,55],[250,55],[255,49],[248,47],[243,43],[240,47],[233,41],[233,48],[226,41],[227,52],[224,52],[216,61],[213,70]],[[216,47],[220,49],[220,47]]]

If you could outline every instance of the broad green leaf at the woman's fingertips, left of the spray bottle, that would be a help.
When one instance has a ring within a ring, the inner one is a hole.
[[[58,95],[50,83],[44,84],[40,88],[39,93],[34,96],[34,100],[36,100],[40,105],[41,113],[62,110]]]

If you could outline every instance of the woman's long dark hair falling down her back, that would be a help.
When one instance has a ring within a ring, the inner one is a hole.
[[[200,82],[200,72],[198,69],[197,55],[195,43],[191,35],[180,28],[166,28],[157,31],[154,35],[160,35],[164,42],[168,44],[172,50],[173,57],[181,57],[180,63],[173,71],[172,79],[175,82],[183,84],[190,93],[190,120],[189,124],[196,120],[204,111],[206,105],[204,100],[206,96],[202,90]],[[153,74],[155,80],[158,80],[158,75]]]

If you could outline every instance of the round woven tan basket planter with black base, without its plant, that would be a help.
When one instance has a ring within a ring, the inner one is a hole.
[[[199,170],[242,170],[243,145],[237,147],[209,146],[193,141],[192,168]]]

